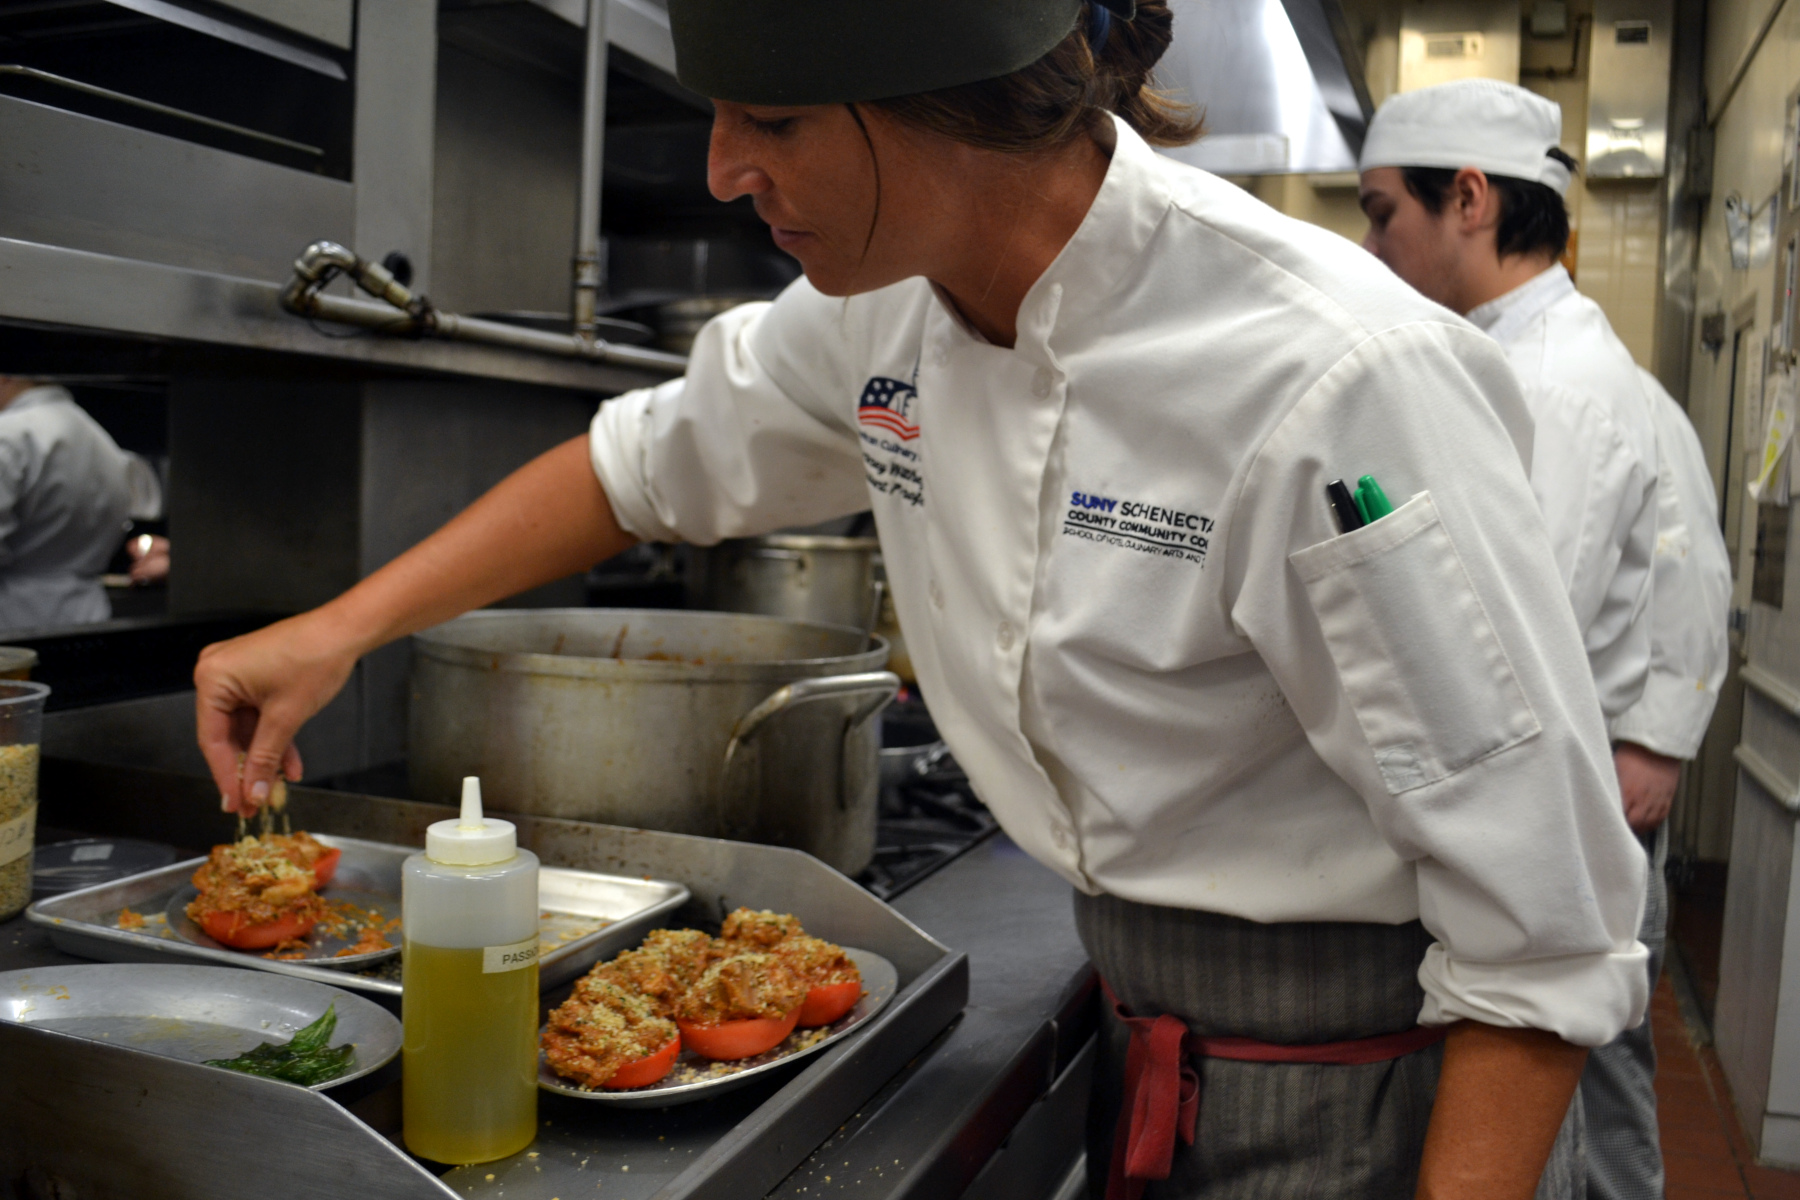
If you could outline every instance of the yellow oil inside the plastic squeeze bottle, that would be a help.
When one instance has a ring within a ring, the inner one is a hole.
[[[538,968],[482,972],[482,950],[403,948],[407,1150],[491,1162],[538,1124]]]

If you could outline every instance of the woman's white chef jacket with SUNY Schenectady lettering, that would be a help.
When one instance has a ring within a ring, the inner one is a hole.
[[[1013,349],[797,281],[594,417],[641,538],[873,507],[932,716],[1030,855],[1255,921],[1422,919],[1422,1020],[1598,1045],[1643,851],[1494,344],[1118,124]],[[1334,477],[1399,511],[1339,536]]]

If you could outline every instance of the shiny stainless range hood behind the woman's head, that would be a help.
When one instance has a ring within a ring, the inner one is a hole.
[[[1355,171],[1373,106],[1339,0],[1172,0],[1161,86],[1206,113],[1163,153],[1219,175]]]

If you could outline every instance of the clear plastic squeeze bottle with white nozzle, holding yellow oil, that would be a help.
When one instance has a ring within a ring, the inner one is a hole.
[[[538,858],[509,820],[463,817],[425,831],[401,871],[405,925],[401,1117],[407,1150],[491,1162],[538,1123]]]

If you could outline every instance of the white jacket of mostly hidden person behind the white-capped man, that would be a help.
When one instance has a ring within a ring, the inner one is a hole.
[[[1690,759],[1724,682],[1732,558],[1699,435],[1656,376],[1640,374],[1658,453],[1651,673],[1643,696],[1613,721],[1613,738]]]

